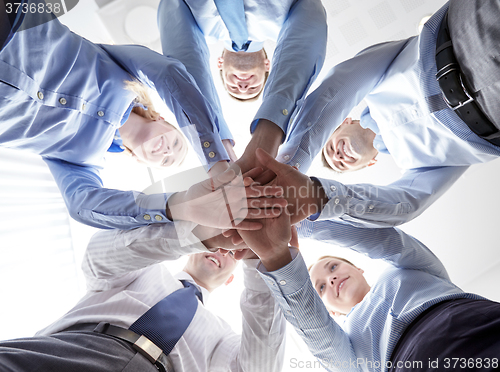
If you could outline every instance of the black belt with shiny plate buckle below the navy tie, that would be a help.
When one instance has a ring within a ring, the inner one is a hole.
[[[138,335],[128,329],[117,327],[109,323],[101,322],[97,323],[81,323],[75,324],[61,332],[70,331],[84,331],[84,332],[96,332],[105,335],[116,337],[120,340],[129,342],[132,347],[137,350],[140,354],[144,355],[151,363],[153,363],[156,368],[161,372],[172,371],[173,368],[170,366],[170,361],[167,359],[165,353],[162,349],[156,346],[147,337]]]

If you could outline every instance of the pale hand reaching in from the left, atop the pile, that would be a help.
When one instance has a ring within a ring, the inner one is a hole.
[[[167,204],[168,218],[219,229],[237,226],[242,230],[258,230],[261,223],[244,219],[278,216],[279,208],[286,205],[286,200],[279,197],[282,189],[255,185],[252,178],[244,178],[238,172],[237,166],[233,168],[172,195]],[[252,176],[258,172],[261,170],[247,174]]]

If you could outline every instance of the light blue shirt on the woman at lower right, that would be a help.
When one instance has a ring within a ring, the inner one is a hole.
[[[267,272],[262,264],[258,267],[288,322],[329,371],[387,371],[399,338],[423,311],[449,299],[484,299],[455,286],[439,259],[397,228],[366,229],[338,221],[305,220],[298,232],[302,238],[350,248],[392,265],[342,325],[323,305],[300,253],[279,270]]]

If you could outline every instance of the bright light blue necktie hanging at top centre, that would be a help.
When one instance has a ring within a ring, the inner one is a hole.
[[[214,0],[214,2],[233,41],[233,50],[246,52],[250,41],[248,41],[243,0]]]

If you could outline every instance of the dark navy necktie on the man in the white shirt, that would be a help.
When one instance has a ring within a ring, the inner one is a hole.
[[[194,284],[181,280],[181,288],[137,319],[129,329],[149,338],[168,355],[193,320],[198,307],[197,298],[202,301],[200,291]]]

